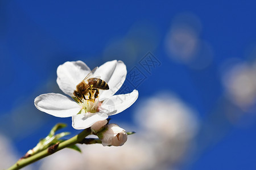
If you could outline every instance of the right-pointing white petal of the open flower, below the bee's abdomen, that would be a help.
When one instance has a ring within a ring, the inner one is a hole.
[[[129,108],[137,100],[138,96],[139,93],[137,90],[134,90],[130,94],[114,95],[103,101],[100,108],[101,112],[104,111],[109,116],[120,113]]]

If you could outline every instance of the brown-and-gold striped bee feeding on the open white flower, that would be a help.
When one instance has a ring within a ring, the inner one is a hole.
[[[98,97],[99,89],[109,90],[109,85],[102,79],[100,76],[96,76],[92,78],[92,75],[98,67],[95,67],[88,75],[85,76],[84,80],[81,83],[77,84],[76,90],[73,92],[74,100],[79,103],[82,103],[82,99],[84,100],[95,100]],[[86,99],[85,96],[88,96]]]

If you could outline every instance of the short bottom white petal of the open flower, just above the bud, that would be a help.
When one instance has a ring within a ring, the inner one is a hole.
[[[72,126],[75,129],[86,129],[92,126],[97,121],[102,121],[108,118],[105,113],[80,113],[72,116]]]

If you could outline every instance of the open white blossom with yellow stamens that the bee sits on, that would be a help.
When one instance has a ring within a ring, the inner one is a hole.
[[[65,62],[57,68],[57,84],[71,97],[77,84],[90,72],[82,61]],[[130,94],[114,95],[126,78],[126,66],[122,61],[109,61],[100,66],[93,76],[100,76],[109,85],[109,90],[100,90],[95,101],[84,100],[77,103],[71,97],[61,94],[43,94],[35,98],[35,107],[56,117],[71,117],[75,129],[86,129],[97,121],[120,113],[129,108],[138,98],[138,91]]]

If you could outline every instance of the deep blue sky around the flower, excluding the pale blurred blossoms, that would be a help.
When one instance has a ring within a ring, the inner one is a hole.
[[[181,169],[255,169],[255,109],[242,111],[230,102],[221,82],[229,59],[250,63],[256,57],[255,5],[254,1],[2,0],[0,131],[13,139],[20,156],[57,122],[67,123],[66,130],[76,134],[71,118],[38,111],[35,97],[61,93],[56,69],[65,61],[82,60],[94,68],[121,59],[128,71],[137,66],[146,79],[137,87],[138,102],[113,116],[113,122],[134,124],[133,111],[140,101],[173,92],[197,111],[201,122],[196,138],[201,147],[195,160]],[[192,17],[186,21],[210,46],[212,59],[203,69],[177,62],[167,52],[168,32],[183,14]],[[150,73],[139,65],[148,52],[161,63]],[[236,112],[239,120],[230,122],[226,112]]]

